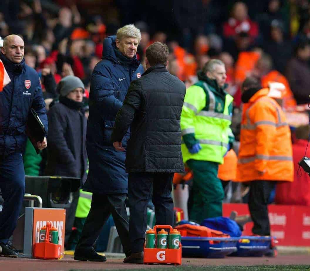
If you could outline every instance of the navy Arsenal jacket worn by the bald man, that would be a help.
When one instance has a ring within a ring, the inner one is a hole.
[[[38,73],[25,64],[16,64],[0,53],[11,82],[0,92],[0,155],[23,152],[27,136],[26,124],[30,108],[48,129],[45,102]]]

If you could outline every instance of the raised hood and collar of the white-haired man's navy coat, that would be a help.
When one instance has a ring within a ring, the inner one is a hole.
[[[134,68],[138,68],[140,62],[135,55],[133,58],[129,59],[126,56],[118,54],[116,47],[116,36],[106,37],[103,41],[103,49],[102,49],[102,59],[111,60],[113,63],[122,63],[125,66],[133,66]]]

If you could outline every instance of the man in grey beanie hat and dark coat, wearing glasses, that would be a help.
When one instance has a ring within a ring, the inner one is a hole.
[[[76,76],[66,76],[57,85],[59,103],[48,111],[50,133],[45,174],[78,177],[86,180],[86,117],[83,108],[84,84]],[[65,247],[75,218],[79,191],[73,193],[73,201],[66,210]]]

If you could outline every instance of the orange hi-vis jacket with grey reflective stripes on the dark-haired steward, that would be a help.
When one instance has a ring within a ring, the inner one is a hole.
[[[290,128],[268,92],[259,90],[243,106],[237,181],[293,181]]]

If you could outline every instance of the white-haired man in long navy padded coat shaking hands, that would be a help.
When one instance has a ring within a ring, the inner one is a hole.
[[[93,195],[91,209],[74,252],[75,260],[106,261],[104,256],[96,253],[93,243],[110,214],[126,256],[131,255],[125,205],[128,193],[126,154],[115,150],[111,133],[131,81],[143,73],[136,57],[140,40],[140,30],[133,24],[119,28],[116,36],[105,38],[102,60],[91,76],[86,135],[89,173],[83,190]],[[122,140],[123,147],[126,147],[129,136],[128,130]]]

